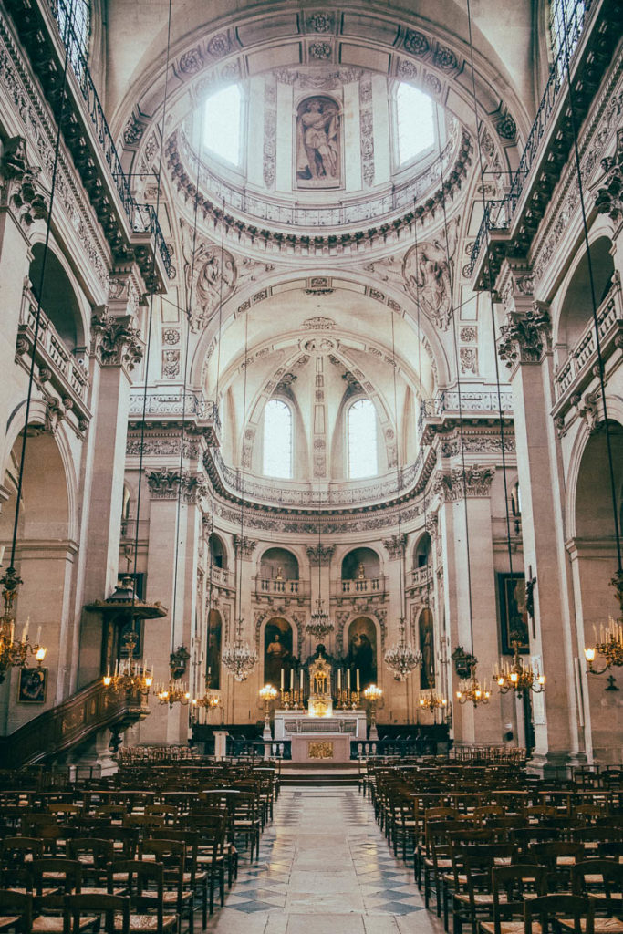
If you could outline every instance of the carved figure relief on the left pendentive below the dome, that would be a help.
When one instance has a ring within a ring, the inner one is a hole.
[[[191,330],[198,331],[208,323],[219,302],[225,302],[233,293],[236,268],[228,250],[221,250],[204,236],[195,240],[183,219],[180,226]]]

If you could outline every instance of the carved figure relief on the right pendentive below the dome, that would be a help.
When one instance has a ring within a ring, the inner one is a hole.
[[[453,257],[457,248],[460,218],[432,240],[409,249],[404,257],[406,289],[428,318],[446,331],[452,320]]]

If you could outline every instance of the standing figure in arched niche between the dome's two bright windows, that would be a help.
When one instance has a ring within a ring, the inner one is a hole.
[[[296,115],[298,188],[341,185],[340,111],[331,97],[306,97]]]

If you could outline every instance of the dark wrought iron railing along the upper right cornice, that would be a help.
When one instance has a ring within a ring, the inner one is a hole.
[[[576,0],[573,7],[570,7],[568,11],[567,43],[572,57],[580,35],[584,30],[588,12],[593,2],[594,0]],[[510,227],[513,216],[517,210],[517,205],[525,189],[526,182],[528,177],[530,177],[532,166],[537,161],[541,143],[545,138],[552,113],[559,100],[560,91],[565,84],[565,56],[566,49],[563,46],[559,49],[558,55],[550,68],[549,78],[545,85],[545,93],[541,98],[541,103],[532,123],[531,131],[526,140],[526,145],[521,154],[517,170],[511,176],[509,191],[504,195],[501,201],[489,201],[485,205],[483,219],[480,223],[478,233],[476,234],[474,247],[472,248],[470,276],[474,273],[475,264],[483,246],[487,244],[488,232]]]

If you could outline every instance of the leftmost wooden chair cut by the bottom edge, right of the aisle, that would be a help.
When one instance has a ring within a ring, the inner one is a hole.
[[[481,920],[480,934],[523,934],[524,902],[545,895],[547,873],[544,866],[520,863],[494,866],[491,870],[492,918]],[[537,934],[535,922],[533,934]]]

